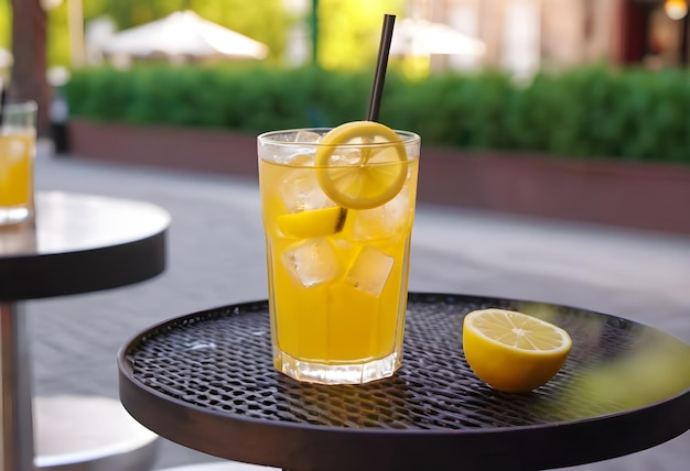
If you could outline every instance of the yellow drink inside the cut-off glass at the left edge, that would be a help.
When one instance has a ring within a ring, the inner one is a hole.
[[[0,134],[0,207],[30,205],[34,143],[30,132]]]

